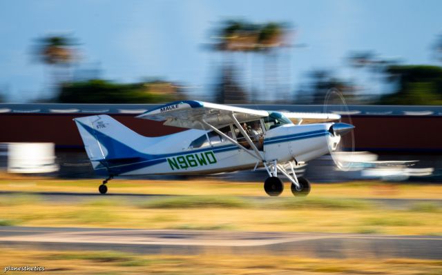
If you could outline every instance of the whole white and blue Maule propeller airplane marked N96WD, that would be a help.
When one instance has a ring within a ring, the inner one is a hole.
[[[93,169],[107,176],[142,174],[215,174],[265,168],[264,190],[279,196],[291,182],[294,196],[307,196],[310,182],[297,177],[296,165],[333,152],[354,125],[339,114],[253,110],[203,101],[175,101],[148,110],[139,119],[186,128],[166,136],[147,137],[111,116],[75,118]],[[334,121],[334,122],[332,122]]]

